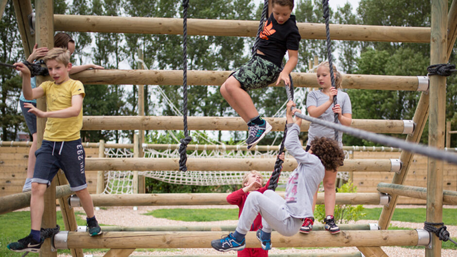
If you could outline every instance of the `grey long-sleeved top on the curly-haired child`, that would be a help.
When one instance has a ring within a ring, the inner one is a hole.
[[[303,150],[299,141],[300,128],[297,124],[287,124],[284,146],[298,162],[290,174],[285,191],[285,209],[294,218],[313,217],[313,197],[324,178],[325,169],[320,159]]]

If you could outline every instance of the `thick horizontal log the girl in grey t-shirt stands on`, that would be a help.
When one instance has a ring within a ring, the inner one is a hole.
[[[60,232],[65,233],[65,232]],[[87,232],[68,232],[68,248],[211,248],[211,240],[220,239],[223,232],[105,232],[90,237]],[[57,249],[62,243],[54,237]],[[297,233],[284,237],[271,233],[273,247],[351,247],[351,246],[413,246],[419,241],[416,230],[347,230],[336,235],[328,231],[313,231],[308,235]],[[59,247],[59,248],[58,248]],[[255,232],[246,235],[246,247],[260,247]]]

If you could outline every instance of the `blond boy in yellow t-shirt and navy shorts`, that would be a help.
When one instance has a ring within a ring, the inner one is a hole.
[[[8,244],[15,252],[39,252],[44,239],[40,238],[41,219],[44,210],[44,193],[51,185],[59,169],[65,172],[71,190],[81,201],[87,214],[87,229],[91,236],[102,234],[94,215],[92,198],[88,192],[85,175],[86,154],[81,144],[80,130],[83,126],[84,86],[80,81],[69,78],[71,69],[70,52],[53,48],[43,58],[53,81],[40,86],[30,86],[30,70],[22,63],[15,63],[22,72],[22,92],[25,99],[46,96],[47,110],[41,111],[31,103],[24,103],[29,112],[40,118],[48,118],[41,147],[35,152],[36,163],[32,178],[30,199],[30,234]]]

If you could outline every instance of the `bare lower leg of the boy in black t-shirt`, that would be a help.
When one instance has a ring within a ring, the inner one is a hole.
[[[227,103],[230,104],[246,123],[252,118],[259,116],[259,112],[257,112],[251,96],[241,88],[240,82],[233,76],[230,76],[222,84],[220,91]]]

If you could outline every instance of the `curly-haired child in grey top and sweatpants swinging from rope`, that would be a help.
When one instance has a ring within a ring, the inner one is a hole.
[[[275,229],[284,236],[292,236],[299,232],[305,218],[313,217],[313,196],[324,177],[325,170],[336,170],[343,164],[343,150],[333,139],[326,137],[315,138],[311,142],[311,149],[305,152],[299,140],[301,119],[294,120],[295,106],[293,101],[287,103],[287,136],[285,147],[298,162],[297,168],[289,176],[286,185],[285,199],[273,190],[266,190],[263,194],[251,192],[245,202],[243,211],[235,232],[222,239],[212,240],[211,246],[222,252],[229,250],[243,250],[246,246],[245,236],[257,214],[262,215],[263,228],[257,230],[257,239],[262,249],[271,249],[271,231]]]

